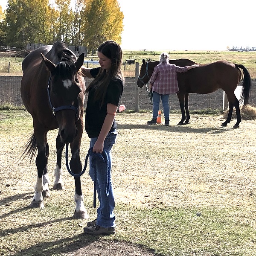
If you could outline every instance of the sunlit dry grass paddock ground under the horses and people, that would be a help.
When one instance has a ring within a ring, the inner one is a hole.
[[[0,111],[0,255],[256,255],[256,120],[191,114],[189,125],[146,125],[151,113],[116,115],[113,147],[116,234],[86,236],[86,219],[73,219],[74,181],[64,154],[64,190],[52,190],[55,138],[48,133],[50,197],[29,208],[35,158],[20,160],[32,132],[26,111]],[[163,117],[162,117],[163,118]],[[89,139],[84,132],[81,159]],[[81,176],[90,220],[93,183]]]

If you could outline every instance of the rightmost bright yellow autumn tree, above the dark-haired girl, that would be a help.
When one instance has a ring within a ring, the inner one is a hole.
[[[85,0],[82,16],[82,43],[95,50],[102,42],[121,43],[124,15],[117,0]]]

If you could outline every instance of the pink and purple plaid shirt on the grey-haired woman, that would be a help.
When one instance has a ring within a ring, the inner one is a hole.
[[[161,62],[153,71],[150,79],[152,84],[152,92],[159,94],[178,93],[177,72],[186,72],[188,67],[179,67],[175,64]]]

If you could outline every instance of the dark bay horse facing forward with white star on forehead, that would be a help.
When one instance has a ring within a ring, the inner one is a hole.
[[[43,197],[49,197],[47,161],[49,145],[47,132],[58,128],[56,138],[57,164],[53,189],[62,189],[61,154],[64,145],[70,143],[70,169],[81,172],[80,145],[83,133],[83,104],[85,82],[80,68],[84,53],[79,58],[64,44],[57,42],[29,53],[22,62],[23,77],[20,93],[27,111],[32,115],[34,133],[23,154],[38,155],[35,163],[38,176],[30,207],[44,207]],[[74,218],[88,218],[84,208],[80,177],[75,177]]]

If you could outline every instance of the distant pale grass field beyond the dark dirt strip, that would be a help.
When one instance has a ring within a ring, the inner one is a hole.
[[[243,64],[247,68],[251,77],[256,78],[256,52],[231,52],[231,51],[167,51],[170,59],[187,58],[200,64],[207,64],[218,60],[227,60],[237,64]],[[155,53],[155,55],[154,55]],[[136,62],[142,64],[142,59],[158,61],[161,52],[151,51],[124,51],[123,61],[127,59],[135,59]],[[97,56],[88,56],[85,59],[97,60]],[[0,57],[0,75],[15,75],[22,76],[21,62],[23,58],[1,58]],[[8,72],[8,65],[10,62],[10,73]],[[90,66],[95,67],[95,66]],[[125,65],[123,68],[126,77],[135,76],[135,65]]]

